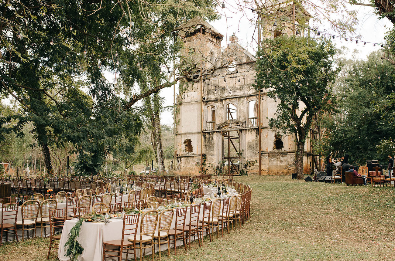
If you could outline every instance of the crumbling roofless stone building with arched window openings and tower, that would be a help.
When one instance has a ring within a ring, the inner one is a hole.
[[[202,163],[208,173],[224,168],[237,174],[249,163],[249,173],[259,169],[262,175],[293,173],[294,138],[281,136],[268,125],[277,104],[256,89],[255,56],[239,45],[235,35],[222,49],[224,35],[200,17],[175,32],[184,41],[184,74],[189,76],[180,82],[176,101],[177,170],[199,173]],[[268,37],[274,34],[280,32]],[[305,172],[312,166],[309,155],[307,141]]]

